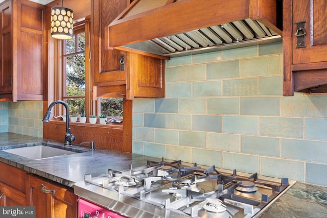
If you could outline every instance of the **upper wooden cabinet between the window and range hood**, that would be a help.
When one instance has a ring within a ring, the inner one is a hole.
[[[94,98],[165,96],[165,60],[107,50],[106,28],[129,4],[129,1],[99,0],[91,3],[91,69]],[[126,33],[128,34],[128,33]]]

